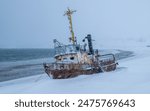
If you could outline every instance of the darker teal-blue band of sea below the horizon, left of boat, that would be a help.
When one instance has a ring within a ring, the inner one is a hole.
[[[52,49],[0,49],[0,62],[48,58],[53,55]]]

